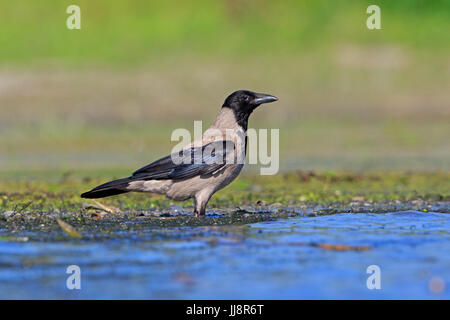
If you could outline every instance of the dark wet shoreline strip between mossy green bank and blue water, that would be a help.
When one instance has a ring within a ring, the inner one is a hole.
[[[206,217],[194,217],[187,208],[172,206],[167,210],[154,208],[146,211],[120,211],[106,213],[100,210],[80,210],[80,212],[5,212],[0,215],[0,240],[26,237],[32,241],[64,241],[71,239],[58,225],[61,219],[82,235],[83,240],[104,240],[139,237],[148,229],[242,226],[264,221],[275,221],[289,217],[315,217],[337,213],[388,212],[440,212],[450,213],[450,203],[443,201],[384,201],[378,203],[339,203],[326,205],[285,206],[281,204],[243,206],[238,209],[209,210]],[[19,240],[20,241],[20,240]]]

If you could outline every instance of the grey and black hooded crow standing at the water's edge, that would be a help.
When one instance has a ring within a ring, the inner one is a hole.
[[[81,197],[103,198],[135,191],[163,194],[174,200],[193,198],[194,215],[204,216],[211,196],[230,184],[244,166],[250,114],[259,105],[277,100],[270,94],[233,92],[201,139],[130,177],[102,184]]]

